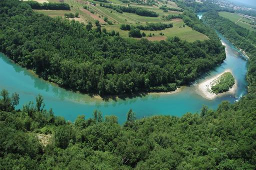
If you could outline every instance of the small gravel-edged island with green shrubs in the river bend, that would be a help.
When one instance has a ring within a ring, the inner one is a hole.
[[[231,70],[215,75],[197,85],[200,95],[207,99],[214,99],[224,92],[234,93],[236,90],[235,79]]]

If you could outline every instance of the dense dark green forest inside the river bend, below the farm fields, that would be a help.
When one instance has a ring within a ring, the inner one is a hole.
[[[93,26],[51,18],[33,12],[27,3],[1,0],[0,51],[40,77],[72,90],[168,91],[173,83],[187,84],[225,58],[216,33],[197,23],[196,16],[185,18],[210,39],[189,43],[178,37],[160,42],[122,38],[101,31],[98,21]]]

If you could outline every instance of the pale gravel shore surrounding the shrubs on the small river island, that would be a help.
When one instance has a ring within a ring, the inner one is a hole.
[[[230,69],[226,69],[224,72],[222,72],[220,74],[217,74],[217,75],[215,75],[215,76],[213,76],[211,78],[208,78],[208,79],[202,81],[201,83],[197,84],[197,86],[196,86],[197,92],[202,97],[210,99],[210,100],[216,98],[217,96],[221,96],[223,94],[227,94],[227,93],[234,94],[236,89],[237,89],[236,80],[234,82],[234,85],[228,91],[226,91],[226,92],[222,92],[220,94],[215,94],[211,90],[211,86],[215,85],[215,81],[225,72],[231,72],[231,70]]]

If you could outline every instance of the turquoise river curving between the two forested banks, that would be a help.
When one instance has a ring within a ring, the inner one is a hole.
[[[156,114],[181,116],[186,112],[199,112],[203,104],[215,109],[222,100],[231,103],[238,100],[247,92],[245,79],[247,71],[246,57],[236,49],[228,40],[219,34],[221,41],[226,46],[226,59],[215,69],[205,73],[190,86],[181,88],[174,94],[148,94],[133,98],[103,101],[91,98],[86,94],[71,92],[60,88],[48,81],[36,77],[31,71],[20,67],[0,53],[0,89],[5,88],[10,93],[20,95],[20,108],[24,103],[35,101],[35,96],[40,93],[44,97],[45,108],[52,108],[55,115],[73,121],[77,115],[84,114],[86,118],[92,116],[92,111],[98,109],[103,115],[116,115],[118,122],[123,123],[129,108],[136,113],[136,118]],[[225,69],[231,69],[237,81],[235,95],[226,94],[213,100],[203,98],[196,90],[196,84],[205,78],[212,77]]]

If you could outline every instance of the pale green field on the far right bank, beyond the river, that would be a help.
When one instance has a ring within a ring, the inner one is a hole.
[[[243,15],[240,15],[238,13],[230,13],[225,11],[218,12],[218,14],[222,17],[228,18],[229,20],[236,23],[237,25],[240,25],[249,30],[256,31],[256,26],[249,24],[249,22],[252,21],[252,19],[249,17],[244,17]]]

